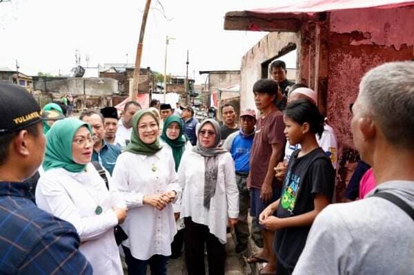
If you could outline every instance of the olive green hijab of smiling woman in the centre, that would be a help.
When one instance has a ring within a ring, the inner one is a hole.
[[[157,133],[157,139],[155,142],[151,144],[144,143],[141,138],[139,138],[139,133],[137,130],[137,125],[139,123],[139,120],[141,120],[141,117],[144,115],[150,115],[154,117],[155,122],[157,122],[159,126],[159,121],[157,117],[155,117],[155,114],[152,113],[152,111],[149,110],[140,110],[135,113],[135,115],[132,117],[132,134],[131,134],[131,142],[126,146],[125,151],[130,153],[135,153],[139,155],[155,155],[159,150],[161,150],[162,146],[159,144],[159,138]]]

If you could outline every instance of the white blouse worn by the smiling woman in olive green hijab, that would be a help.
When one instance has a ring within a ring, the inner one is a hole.
[[[155,155],[121,153],[113,180],[128,206],[128,216],[121,225],[128,239],[122,245],[139,260],[148,260],[155,254],[169,256],[170,244],[177,233],[172,204],[159,211],[144,205],[143,198],[171,190],[179,196],[181,188],[170,151],[163,147]]]

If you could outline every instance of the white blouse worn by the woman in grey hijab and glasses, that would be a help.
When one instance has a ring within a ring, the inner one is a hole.
[[[185,151],[178,169],[178,182],[183,188],[180,218],[207,225],[210,233],[226,243],[228,218],[239,218],[239,189],[235,164],[230,153],[218,155],[217,185],[210,209],[204,207],[204,157]]]

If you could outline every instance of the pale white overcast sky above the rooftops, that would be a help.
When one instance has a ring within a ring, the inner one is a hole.
[[[186,74],[204,82],[199,70],[238,70],[242,56],[267,32],[224,30],[228,11],[275,6],[277,0],[152,0],[141,68]],[[290,2],[301,0],[290,0]],[[70,74],[75,51],[81,65],[135,63],[145,0],[10,0],[0,3],[0,68],[28,75]],[[161,12],[161,5],[165,12]],[[89,61],[86,61],[88,57]],[[287,66],[295,66],[288,57]]]

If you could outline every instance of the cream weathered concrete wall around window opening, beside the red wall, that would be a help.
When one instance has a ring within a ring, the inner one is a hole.
[[[282,56],[295,44],[299,48],[299,34],[294,32],[270,32],[242,57],[240,108],[256,109],[253,84],[262,78],[262,64]],[[267,67],[266,67],[267,68]]]

